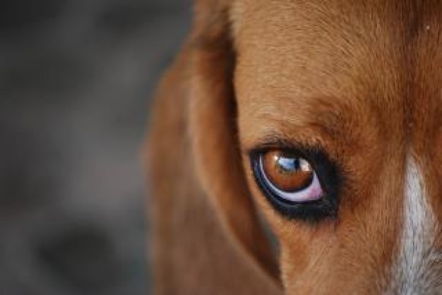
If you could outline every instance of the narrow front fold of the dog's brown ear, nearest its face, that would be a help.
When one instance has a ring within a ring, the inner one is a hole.
[[[197,1],[191,36],[189,124],[196,173],[227,236],[273,279],[278,271],[246,183],[237,138],[235,54],[227,1]]]

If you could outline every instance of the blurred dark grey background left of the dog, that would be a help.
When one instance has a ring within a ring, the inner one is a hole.
[[[150,294],[141,147],[190,0],[0,1],[0,294]]]

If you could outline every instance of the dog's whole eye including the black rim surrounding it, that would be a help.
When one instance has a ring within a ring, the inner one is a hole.
[[[320,148],[257,148],[250,159],[258,187],[285,217],[318,222],[338,214],[342,176]]]

